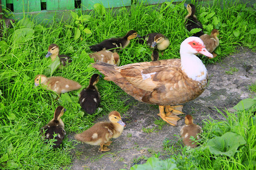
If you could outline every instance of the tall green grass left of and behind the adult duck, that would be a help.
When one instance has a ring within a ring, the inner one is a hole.
[[[251,8],[224,1],[223,8],[220,2],[222,1],[214,1],[212,6],[197,5],[196,15],[203,24],[205,33],[209,33],[212,28],[220,29],[220,46],[216,51],[218,56],[212,60],[203,57],[204,63],[221,61],[225,56],[236,52],[237,46],[255,49],[255,4]],[[77,14],[80,16],[81,11]],[[40,139],[39,131],[52,119],[57,105],[61,104],[67,109],[62,117],[67,134],[88,129],[97,117],[110,111],[117,110],[124,114],[130,106],[121,98],[126,95],[125,92],[113,82],[103,79],[97,85],[101,94],[102,112],[92,116],[81,111],[78,103],[79,91],[69,92],[72,101],[67,101],[67,96],[54,100],[51,92],[41,87],[34,88],[35,76],[43,74],[51,63],[49,58],[45,58],[49,44],[59,45],[60,54],[69,54],[73,58],[71,65],[63,70],[56,70],[53,76],[64,76],[86,87],[90,76],[98,73],[90,66],[89,45],[110,37],[124,36],[131,29],[135,29],[142,36],[160,32],[171,42],[160,59],[179,58],[180,43],[189,36],[183,25],[184,16],[187,15],[183,3],[163,3],[160,6],[138,4],[116,11],[107,9],[105,15],[94,11],[88,15],[90,18],[84,22],[74,16],[69,21],[46,19],[43,23],[27,16],[22,22],[14,24],[13,28],[3,30],[6,35],[0,41],[1,169],[70,167],[70,152],[74,147],[72,141],[65,138],[61,148],[52,150]],[[20,34],[21,31],[23,35]],[[121,65],[150,61],[150,54],[147,46],[135,41],[131,41],[125,50],[119,52]],[[159,126],[162,127],[160,123]]]

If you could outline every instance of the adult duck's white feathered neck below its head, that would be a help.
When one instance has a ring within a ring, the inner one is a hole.
[[[207,79],[207,69],[204,63],[194,54],[180,52],[181,69],[189,78],[201,81]]]

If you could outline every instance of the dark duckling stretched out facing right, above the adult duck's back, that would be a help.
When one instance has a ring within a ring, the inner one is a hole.
[[[89,46],[90,50],[93,52],[99,52],[101,50],[111,50],[114,52],[115,50],[120,50],[129,45],[130,40],[135,39],[135,37],[141,37],[134,30],[129,31],[126,36],[122,38],[112,38],[108,40],[102,41],[100,44]]]

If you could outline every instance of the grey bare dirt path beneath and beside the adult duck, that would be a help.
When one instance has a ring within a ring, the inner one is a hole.
[[[197,99],[184,105],[183,112],[192,114],[196,124],[201,125],[202,120],[212,117],[224,120],[216,108],[230,109],[240,100],[252,97],[248,86],[255,83],[255,52],[250,49],[241,48],[240,52],[226,57],[221,63],[207,66],[210,76],[209,86]],[[134,102],[133,97],[129,99]],[[215,108],[216,107],[216,108]],[[159,119],[158,107],[141,102],[123,114],[123,121],[126,122],[122,135],[113,139],[109,152],[98,152],[98,146],[90,146],[79,143],[74,150],[75,158],[71,169],[129,169],[134,163],[146,162],[143,156],[150,157],[153,152],[162,152],[163,141],[167,138],[170,141],[179,140],[180,128],[184,125],[184,116],[177,126],[164,125],[158,130],[154,123]],[[102,117],[98,121],[107,120]],[[154,132],[146,133],[143,128],[155,128]],[[73,139],[73,134],[69,135]]]

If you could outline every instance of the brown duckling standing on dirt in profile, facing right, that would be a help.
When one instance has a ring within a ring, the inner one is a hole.
[[[110,139],[118,138],[125,127],[125,123],[122,121],[120,113],[117,111],[109,113],[109,120],[110,122],[98,122],[88,130],[76,134],[75,139],[89,145],[100,145],[99,151],[109,151],[110,149],[106,146],[112,143]]]

